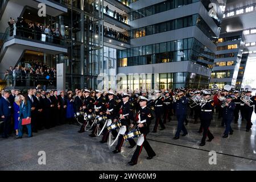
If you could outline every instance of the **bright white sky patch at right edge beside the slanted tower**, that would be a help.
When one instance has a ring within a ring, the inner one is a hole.
[[[256,57],[250,57],[250,59],[247,60],[242,86],[245,85],[256,88]]]

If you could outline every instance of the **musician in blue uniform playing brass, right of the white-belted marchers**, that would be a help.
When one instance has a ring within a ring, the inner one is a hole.
[[[178,122],[177,131],[174,137],[175,140],[180,138],[181,130],[183,131],[183,137],[185,137],[185,135],[188,134],[188,131],[184,126],[185,117],[187,115],[188,101],[189,99],[185,96],[185,89],[180,88],[177,93],[177,96],[175,96],[174,98],[175,113]]]

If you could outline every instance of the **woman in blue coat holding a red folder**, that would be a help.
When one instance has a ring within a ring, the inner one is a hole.
[[[22,95],[20,95],[21,98],[21,102],[20,102],[20,107],[19,107],[19,136],[16,138],[22,138],[22,119],[27,118],[29,119],[31,117],[31,103],[29,101],[27,101],[27,97],[24,97]],[[31,132],[31,124],[26,125],[27,126],[27,131],[28,131],[28,137],[30,138],[32,137],[32,132]]]

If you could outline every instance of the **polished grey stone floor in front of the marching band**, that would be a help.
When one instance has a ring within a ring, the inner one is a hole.
[[[63,125],[40,131],[32,138],[19,140],[0,139],[0,170],[256,170],[256,125],[245,132],[245,122],[232,124],[234,134],[222,138],[224,127],[214,119],[210,130],[212,142],[204,147],[199,143],[202,135],[196,133],[199,124],[192,119],[186,126],[189,134],[173,140],[176,120],[167,123],[167,129],[150,133],[147,138],[156,157],[146,160],[143,149],[136,166],[129,166],[131,154],[126,143],[125,155],[112,154],[114,147],[90,138],[89,133],[79,134],[78,126]],[[151,126],[152,129],[152,126]],[[38,164],[38,152],[46,152],[46,165]],[[209,164],[209,151],[216,151],[217,164]]]

